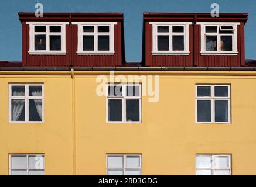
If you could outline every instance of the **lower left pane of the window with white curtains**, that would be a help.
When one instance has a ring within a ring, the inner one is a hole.
[[[25,121],[24,99],[12,99],[12,121]]]

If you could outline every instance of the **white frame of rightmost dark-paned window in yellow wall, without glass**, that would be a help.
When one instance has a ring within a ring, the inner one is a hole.
[[[211,96],[197,96],[197,87],[198,86],[210,86],[211,89]],[[216,97],[214,96],[214,88],[215,86],[224,86],[224,87],[228,87],[228,96],[227,97]],[[211,101],[211,122],[198,122],[197,120],[197,101],[199,100],[209,100]],[[215,100],[227,100],[228,101],[228,122],[215,122]],[[223,85],[223,84],[214,84],[214,85],[204,85],[204,84],[197,84],[196,85],[196,123],[221,123],[221,124],[230,124],[231,123],[231,109],[230,109],[230,100],[231,100],[231,96],[230,96],[230,85]]]

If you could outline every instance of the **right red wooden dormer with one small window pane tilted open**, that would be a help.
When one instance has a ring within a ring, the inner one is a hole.
[[[245,65],[247,13],[144,13],[142,64],[152,67]]]

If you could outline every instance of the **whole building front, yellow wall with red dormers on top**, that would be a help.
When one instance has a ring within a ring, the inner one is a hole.
[[[122,13],[19,13],[1,62],[1,175],[255,175],[247,14],[144,13],[126,63]]]

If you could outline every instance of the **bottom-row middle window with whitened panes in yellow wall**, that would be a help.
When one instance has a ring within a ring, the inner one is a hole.
[[[142,175],[141,155],[107,155],[107,175]]]

